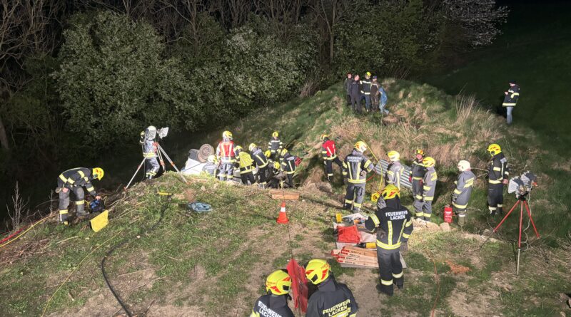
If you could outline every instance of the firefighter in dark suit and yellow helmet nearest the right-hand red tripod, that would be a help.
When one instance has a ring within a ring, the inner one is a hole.
[[[500,145],[490,144],[487,152],[490,152],[492,157],[487,172],[487,208],[490,209],[490,214],[495,216],[496,213],[503,214],[504,185],[507,184],[510,170]]]

